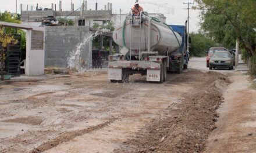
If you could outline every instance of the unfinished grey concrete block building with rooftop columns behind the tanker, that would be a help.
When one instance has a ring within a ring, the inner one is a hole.
[[[95,10],[87,9],[87,1],[81,4],[81,7],[74,10],[74,4],[71,4],[70,10],[62,10],[62,1],[59,1],[59,9],[56,4],[52,3],[50,8],[38,8],[31,6],[31,9],[23,10],[23,5],[20,5],[22,24],[42,26],[41,21],[44,17],[54,16],[56,19],[65,18],[73,19],[74,26],[46,26],[45,27],[45,65],[56,67],[68,67],[70,54],[80,49],[79,60],[83,67],[90,68],[92,65],[92,50],[93,39],[91,38],[95,32],[93,29],[94,23],[104,24],[112,21],[115,25],[123,23],[127,14],[113,14],[112,3],[106,3],[104,9],[98,9],[95,3]],[[129,12],[127,12],[129,13]],[[149,14],[152,17],[165,22],[166,17],[163,14]],[[100,44],[102,38],[109,39],[109,52],[112,50],[112,32],[101,32]],[[86,41],[86,42],[84,42]],[[81,46],[82,45],[82,46]],[[102,49],[102,45],[99,50]]]

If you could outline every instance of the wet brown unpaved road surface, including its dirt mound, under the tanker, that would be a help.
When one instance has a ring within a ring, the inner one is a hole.
[[[202,152],[233,72],[189,69],[165,83],[111,83],[106,70],[1,82],[0,152]]]

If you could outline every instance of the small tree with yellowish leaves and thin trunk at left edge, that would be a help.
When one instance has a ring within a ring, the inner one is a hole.
[[[5,61],[5,53],[3,52],[3,48],[6,48],[9,43],[17,43],[17,40],[5,33],[5,28],[0,27],[0,44],[1,44],[1,80],[3,81],[3,70],[4,70],[4,61]]]

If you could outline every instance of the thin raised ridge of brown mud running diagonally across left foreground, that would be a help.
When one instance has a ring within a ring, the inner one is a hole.
[[[53,139],[51,141],[47,141],[47,142],[41,144],[40,146],[38,146],[37,148],[34,148],[30,153],[40,153],[40,152],[50,150],[51,148],[54,148],[59,144],[65,143],[69,140],[72,140],[75,137],[81,136],[81,135],[86,134],[86,133],[93,132],[94,130],[102,129],[105,126],[108,126],[111,123],[113,123],[116,119],[118,119],[118,118],[112,118],[109,121],[106,121],[106,122],[101,123],[99,125],[91,126],[89,128],[86,128],[86,129],[75,130],[75,131],[72,131],[72,132],[63,132],[58,137],[55,137],[55,139]]]

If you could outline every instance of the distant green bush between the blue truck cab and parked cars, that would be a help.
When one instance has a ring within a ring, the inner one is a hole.
[[[191,42],[191,48],[190,48],[190,54],[191,56],[207,56],[206,51],[216,46],[216,43],[212,41],[211,39],[205,37],[203,34],[195,34],[192,32],[190,34],[191,39],[193,40]]]

